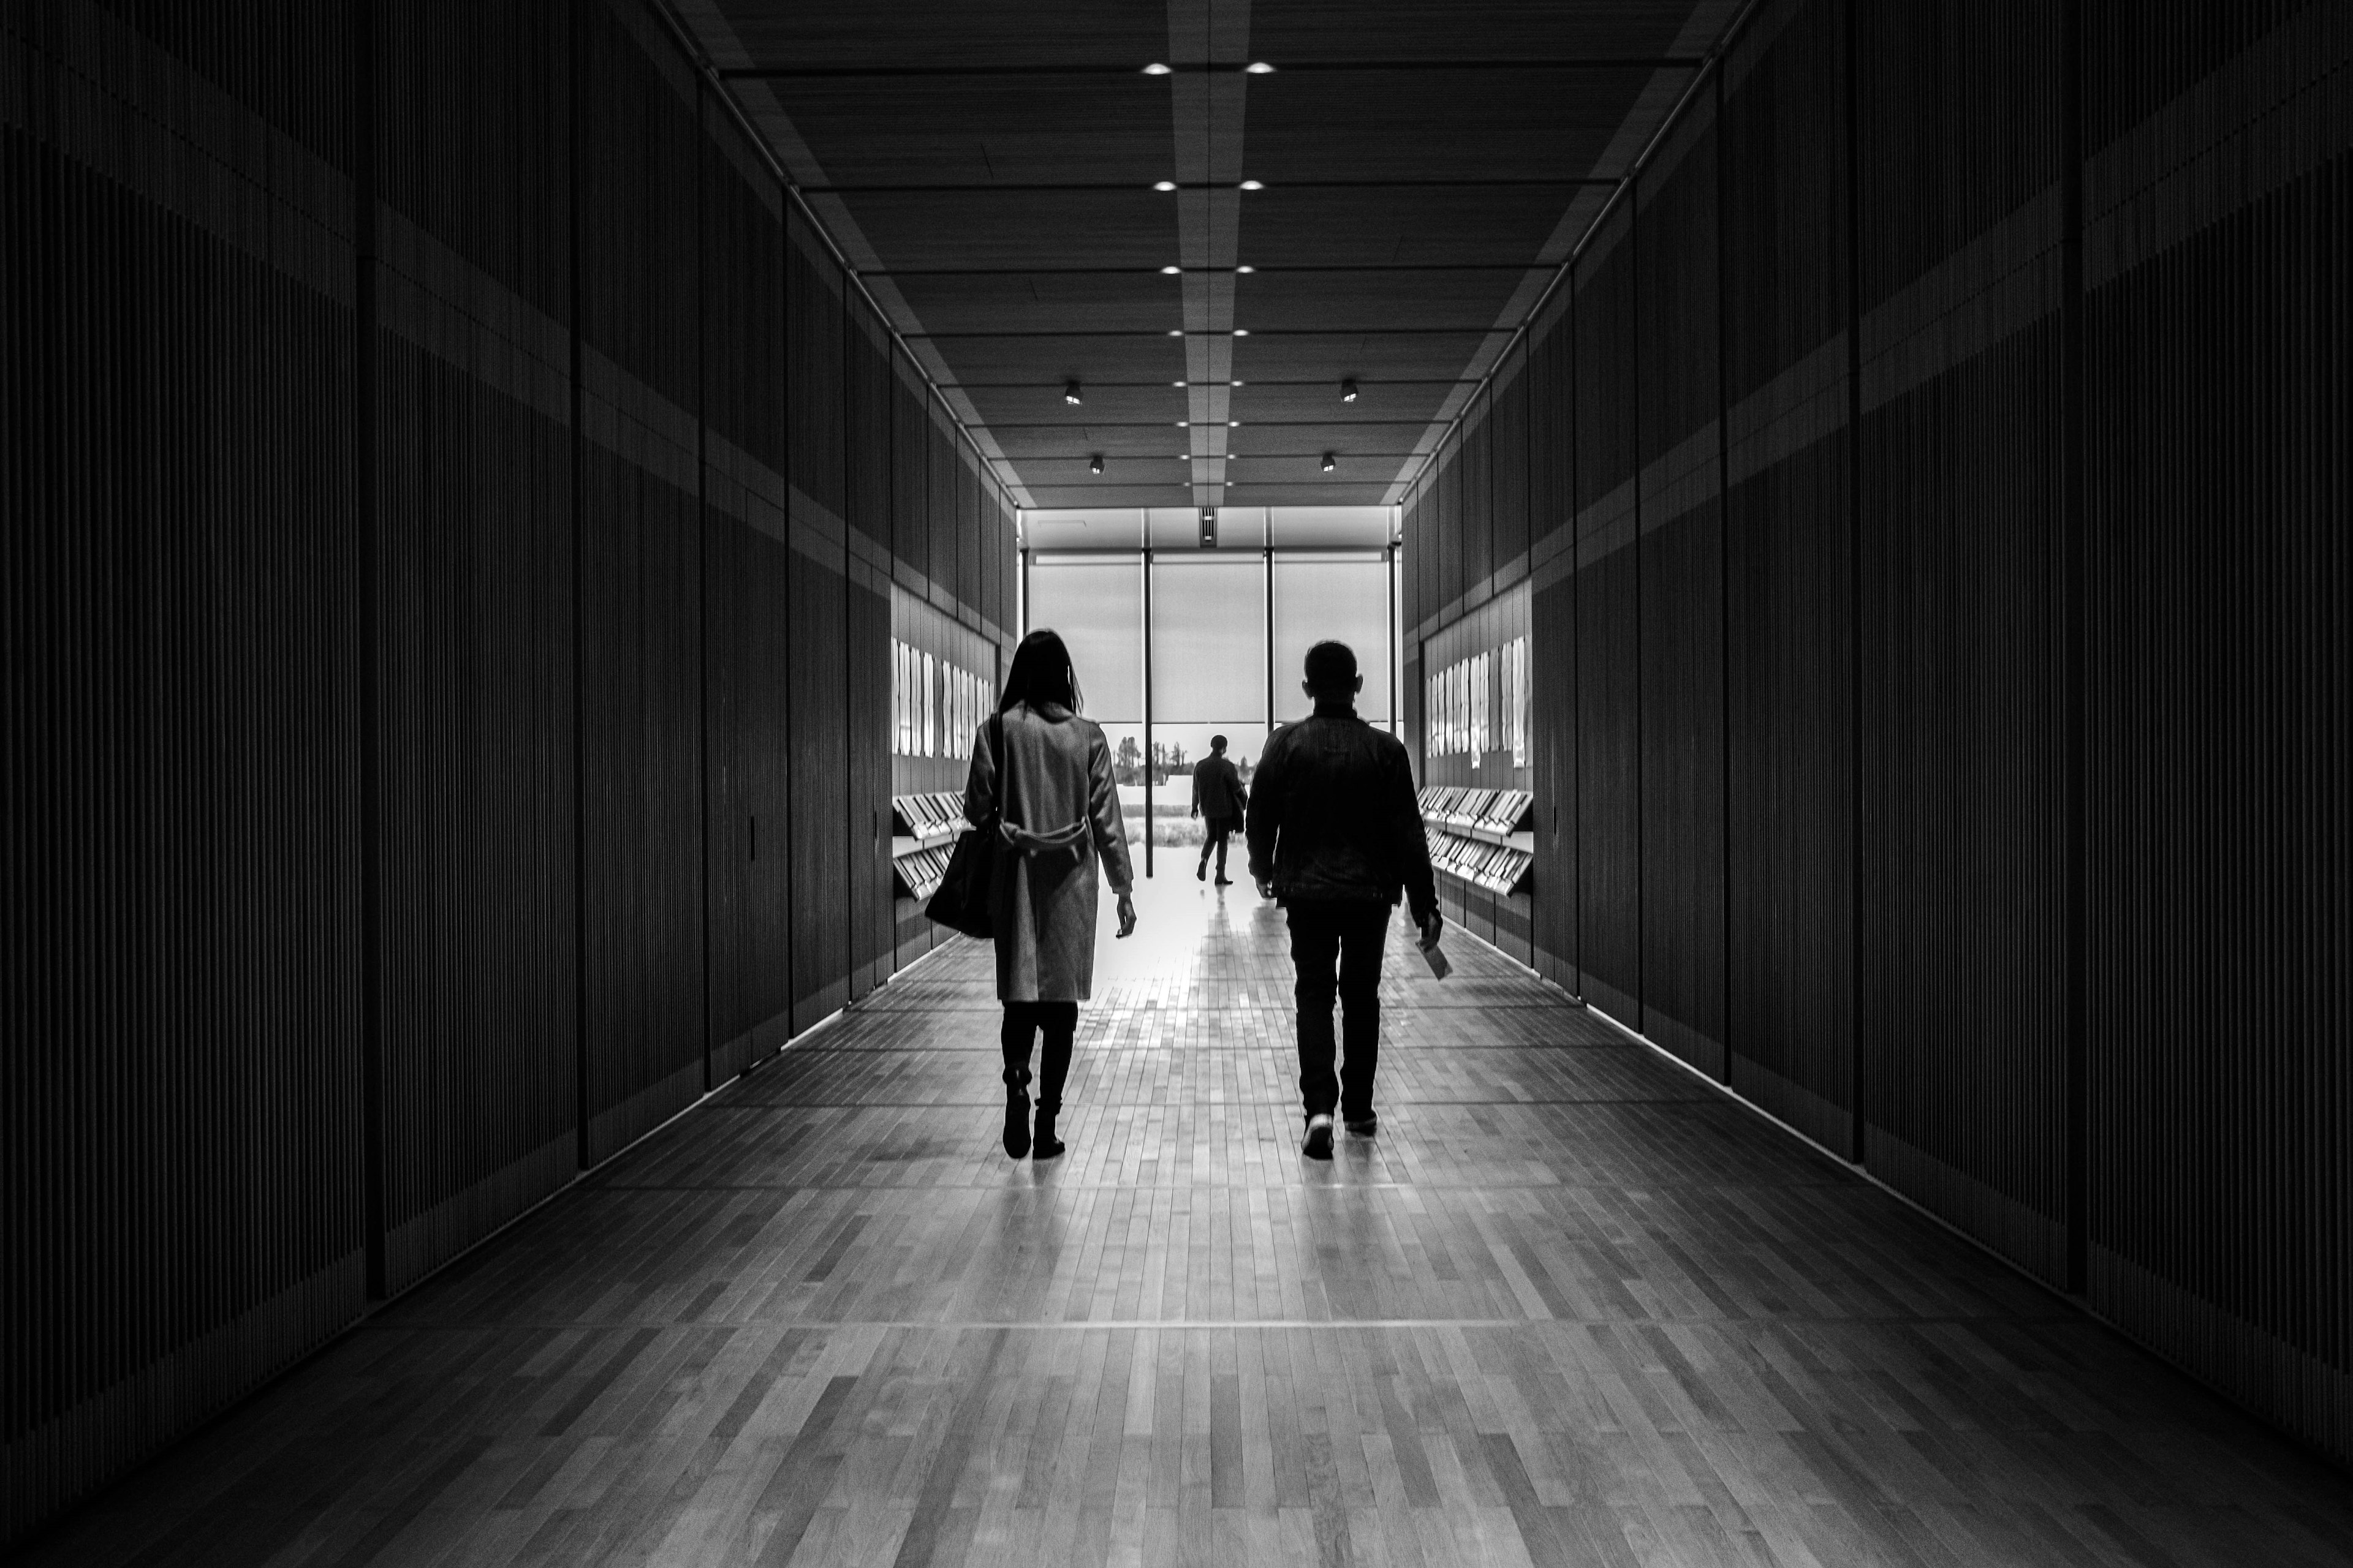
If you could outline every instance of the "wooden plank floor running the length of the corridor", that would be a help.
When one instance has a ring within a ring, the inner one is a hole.
[[[1464,938],[1297,1152],[1280,917],[958,943],[28,1563],[2346,1563],[2339,1472]]]

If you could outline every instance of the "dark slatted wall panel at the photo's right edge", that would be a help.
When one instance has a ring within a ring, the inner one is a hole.
[[[2082,7],[2092,1302],[2353,1458],[2353,16]]]

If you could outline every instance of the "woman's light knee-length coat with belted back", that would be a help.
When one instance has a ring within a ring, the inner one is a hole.
[[[1111,745],[1099,724],[1054,703],[1035,710],[1021,703],[1002,717],[1007,757],[993,755],[993,726],[981,724],[965,780],[965,818],[984,823],[995,811],[1000,776],[1009,776],[1012,809],[991,879],[998,999],[1085,1001],[1094,985],[1096,858],[1113,893],[1134,884]]]

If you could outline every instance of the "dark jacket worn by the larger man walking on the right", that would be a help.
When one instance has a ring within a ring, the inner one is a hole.
[[[1266,741],[1249,790],[1249,875],[1282,903],[1398,903],[1438,912],[1405,745],[1346,710]]]

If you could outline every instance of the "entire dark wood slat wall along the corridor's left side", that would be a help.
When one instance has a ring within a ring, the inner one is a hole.
[[[1009,520],[642,0],[12,7],[0,160],[14,1542],[899,961]]]

